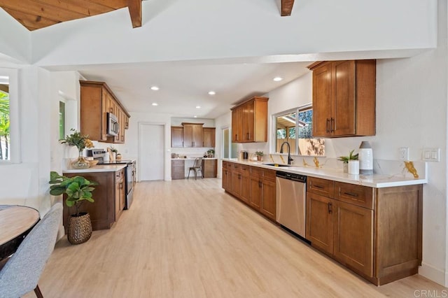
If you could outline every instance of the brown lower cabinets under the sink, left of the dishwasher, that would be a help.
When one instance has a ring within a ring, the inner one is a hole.
[[[245,204],[275,220],[275,171],[223,161],[223,188]]]

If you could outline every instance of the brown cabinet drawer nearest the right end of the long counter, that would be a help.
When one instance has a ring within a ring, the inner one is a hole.
[[[373,210],[372,187],[335,182],[335,199]]]

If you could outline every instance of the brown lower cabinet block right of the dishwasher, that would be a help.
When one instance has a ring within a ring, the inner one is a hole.
[[[307,178],[306,238],[375,285],[421,265],[423,186],[372,188]]]

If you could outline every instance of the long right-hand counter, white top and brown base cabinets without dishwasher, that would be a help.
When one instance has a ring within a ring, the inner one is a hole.
[[[276,171],[307,176],[305,238],[311,246],[375,285],[418,273],[426,173],[421,178],[414,178],[416,170],[409,171],[412,175],[353,176],[342,169],[228,159],[223,188],[275,220],[281,199],[272,182]]]

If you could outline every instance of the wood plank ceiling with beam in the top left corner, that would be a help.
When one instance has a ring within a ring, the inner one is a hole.
[[[129,3],[128,3],[129,2]],[[141,26],[141,0],[0,0],[0,7],[30,31],[130,6],[132,26]],[[139,10],[139,11],[137,11]]]

